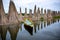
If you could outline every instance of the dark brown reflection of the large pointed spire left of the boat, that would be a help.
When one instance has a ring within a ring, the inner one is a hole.
[[[16,40],[17,33],[18,33],[18,30],[19,30],[19,26],[11,25],[11,26],[8,27],[8,30],[9,30],[10,35],[11,35],[11,40]]]

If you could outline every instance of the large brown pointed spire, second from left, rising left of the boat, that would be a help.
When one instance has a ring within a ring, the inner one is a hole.
[[[9,24],[18,23],[18,12],[12,0],[10,0],[10,4],[9,4],[8,20],[9,20]]]

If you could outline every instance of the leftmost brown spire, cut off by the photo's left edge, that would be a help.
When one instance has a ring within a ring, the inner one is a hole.
[[[6,25],[8,23],[8,19],[5,15],[3,1],[0,0],[0,25]]]

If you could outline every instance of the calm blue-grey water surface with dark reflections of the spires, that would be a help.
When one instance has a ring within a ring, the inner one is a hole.
[[[0,26],[0,40],[60,40],[60,19],[34,21],[34,27]]]

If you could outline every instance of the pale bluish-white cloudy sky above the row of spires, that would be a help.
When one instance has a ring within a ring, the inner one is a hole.
[[[15,3],[16,9],[19,12],[19,8],[21,7],[22,12],[24,12],[25,8],[34,10],[34,6],[37,8],[43,9],[51,9],[55,11],[60,11],[60,0],[13,0]],[[3,0],[3,5],[5,12],[7,13],[9,10],[10,0]]]

